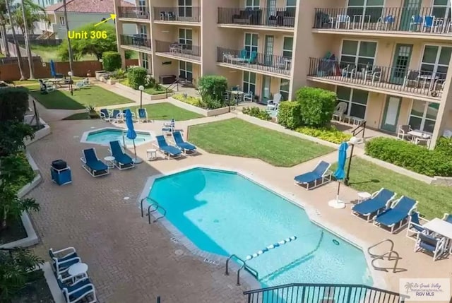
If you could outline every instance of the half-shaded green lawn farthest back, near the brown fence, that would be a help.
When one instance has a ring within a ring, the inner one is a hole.
[[[126,97],[93,85],[89,88],[74,90],[73,96],[69,90],[56,90],[47,95],[41,95],[38,90],[32,90],[30,95],[49,109],[83,109],[88,105],[102,107],[133,102]]]

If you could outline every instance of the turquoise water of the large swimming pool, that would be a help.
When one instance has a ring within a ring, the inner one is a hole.
[[[199,249],[247,255],[280,242],[246,263],[263,286],[287,283],[372,285],[360,249],[311,222],[302,208],[240,174],[196,168],[156,179],[148,197]]]

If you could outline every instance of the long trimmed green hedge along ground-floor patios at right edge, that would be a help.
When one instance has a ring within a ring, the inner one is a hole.
[[[366,143],[366,154],[429,177],[452,177],[452,156],[446,156],[442,150],[380,137]]]

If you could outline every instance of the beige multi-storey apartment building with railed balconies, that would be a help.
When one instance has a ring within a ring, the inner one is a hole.
[[[326,88],[358,123],[409,124],[433,134],[431,148],[452,129],[451,0],[115,1],[119,51],[140,52],[162,83],[216,74],[260,102]],[[137,35],[121,33],[128,23]]]

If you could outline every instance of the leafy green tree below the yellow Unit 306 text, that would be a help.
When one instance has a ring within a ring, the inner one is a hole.
[[[102,23],[94,27],[95,23],[83,25],[74,30],[75,32],[88,32],[88,39],[71,39],[74,59],[81,59],[85,54],[93,54],[97,59],[102,59],[103,52],[116,52],[117,40],[116,30],[113,25]],[[91,34],[96,32],[105,32],[103,37],[91,39]],[[68,38],[64,40],[59,49],[59,56],[63,60],[69,59]]]

